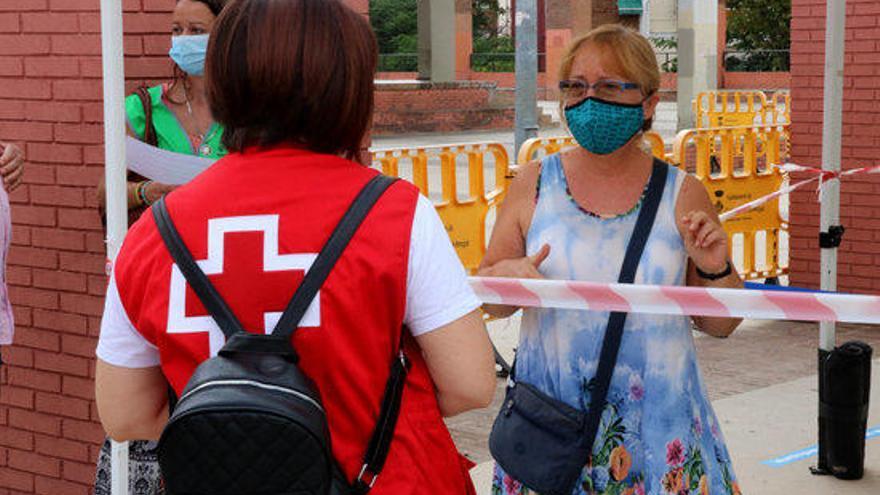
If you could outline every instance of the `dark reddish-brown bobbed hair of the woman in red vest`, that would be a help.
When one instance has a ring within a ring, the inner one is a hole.
[[[376,39],[339,0],[232,0],[205,69],[231,151],[293,143],[354,159],[373,113]]]

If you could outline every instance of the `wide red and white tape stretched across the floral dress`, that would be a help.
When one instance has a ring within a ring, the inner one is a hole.
[[[488,304],[664,315],[880,324],[880,297],[471,277]]]

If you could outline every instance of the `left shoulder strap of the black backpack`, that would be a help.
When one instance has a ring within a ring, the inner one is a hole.
[[[205,272],[199,268],[183,239],[181,239],[180,233],[177,232],[177,228],[171,220],[171,215],[168,214],[168,207],[165,205],[164,197],[153,204],[153,219],[156,221],[156,227],[159,229],[159,234],[162,235],[162,240],[165,241],[168,252],[171,253],[171,258],[177,263],[177,267],[183,273],[183,276],[196,295],[199,296],[199,300],[205,305],[205,309],[208,310],[214,321],[217,322],[217,326],[226,335],[226,339],[230,339],[238,332],[243,332],[244,328],[241,326],[238,318],[235,317],[232,310],[229,309],[229,306],[220,297],[220,294],[214,288],[211,281],[208,280]]]

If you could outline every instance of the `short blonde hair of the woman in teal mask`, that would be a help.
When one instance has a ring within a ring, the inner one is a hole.
[[[610,56],[620,69],[621,76],[638,83],[643,96],[651,96],[660,89],[660,65],[654,47],[637,31],[621,24],[604,24],[568,45],[559,67],[559,80],[571,76],[574,60],[587,44],[603,49],[603,54]],[[651,128],[651,120],[645,122],[644,130]]]

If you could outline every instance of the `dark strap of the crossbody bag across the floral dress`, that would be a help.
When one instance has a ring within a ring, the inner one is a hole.
[[[669,174],[669,165],[660,160],[654,160],[654,167],[651,172],[651,179],[648,182],[648,191],[645,195],[645,201],[639,211],[639,217],[636,220],[636,226],[633,229],[632,236],[626,248],[626,255],[623,258],[623,267],[620,269],[620,277],[618,282],[621,284],[631,284],[635,280],[636,270],[639,267],[639,261],[642,253],[645,251],[645,245],[648,243],[648,237],[651,235],[651,229],[654,226],[654,219],[657,217],[657,210],[660,206],[660,200],[663,197],[663,190],[666,185],[666,177]],[[608,327],[605,330],[605,339],[602,342],[602,351],[599,355],[599,366],[596,376],[591,380],[590,390],[590,408],[587,412],[586,424],[586,441],[590,447],[590,457],[592,457],[593,444],[596,442],[596,435],[599,432],[599,422],[602,419],[602,412],[605,410],[605,402],[608,397],[608,388],[611,385],[611,377],[614,374],[614,367],[617,364],[617,354],[620,350],[620,342],[623,338],[623,327],[626,323],[627,313],[613,312],[608,318]]]

